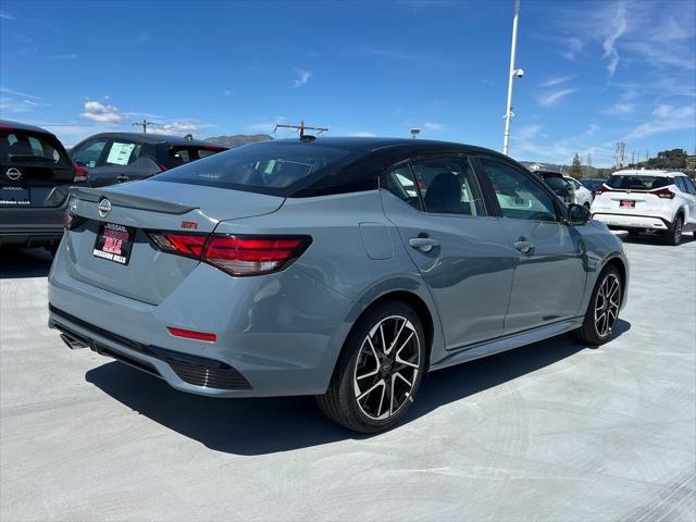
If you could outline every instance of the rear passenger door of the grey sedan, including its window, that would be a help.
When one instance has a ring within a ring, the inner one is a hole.
[[[385,213],[433,295],[447,348],[499,336],[513,253],[500,220],[487,214],[469,159],[405,163],[381,186]]]

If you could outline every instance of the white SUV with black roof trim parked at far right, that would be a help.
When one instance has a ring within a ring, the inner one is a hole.
[[[681,172],[618,171],[595,190],[591,212],[609,228],[661,232],[679,245],[683,232],[696,231],[696,186]]]

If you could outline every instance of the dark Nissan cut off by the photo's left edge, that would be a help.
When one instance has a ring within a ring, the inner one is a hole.
[[[0,120],[0,246],[55,249],[67,189],[86,178],[51,133]]]

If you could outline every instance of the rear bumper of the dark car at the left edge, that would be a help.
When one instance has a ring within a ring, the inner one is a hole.
[[[66,204],[67,200],[60,207],[0,208],[0,245],[34,247],[58,244],[63,236]]]

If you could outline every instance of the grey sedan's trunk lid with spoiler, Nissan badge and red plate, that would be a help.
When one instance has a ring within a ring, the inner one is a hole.
[[[151,304],[174,291],[199,261],[154,248],[148,233],[183,231],[204,237],[223,220],[272,213],[284,202],[274,196],[152,181],[72,194],[76,217],[66,234],[71,275]]]

